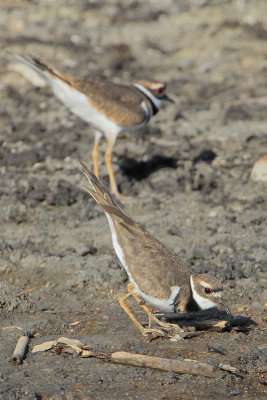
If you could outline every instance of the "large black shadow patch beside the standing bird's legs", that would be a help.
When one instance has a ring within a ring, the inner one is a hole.
[[[137,181],[141,181],[158,169],[166,167],[177,168],[177,159],[156,154],[147,161],[136,161],[127,157],[120,163],[124,175]]]

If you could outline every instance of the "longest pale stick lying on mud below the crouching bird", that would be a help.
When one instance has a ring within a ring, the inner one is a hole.
[[[110,355],[110,361],[115,364],[131,365],[141,368],[152,368],[160,371],[172,371],[177,374],[201,375],[210,378],[222,376],[217,367],[198,361],[172,360],[168,358],[133,354],[126,351],[118,351]]]

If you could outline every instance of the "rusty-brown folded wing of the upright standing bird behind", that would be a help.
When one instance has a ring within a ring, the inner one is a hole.
[[[138,125],[149,119],[140,107],[144,97],[135,87],[99,79],[72,79],[71,83],[87,95],[93,106],[119,125]]]

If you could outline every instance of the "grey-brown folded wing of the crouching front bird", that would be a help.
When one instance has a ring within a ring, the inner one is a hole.
[[[166,245],[124,215],[110,213],[125,262],[142,292],[168,298],[172,286],[188,282],[190,272],[184,261]]]

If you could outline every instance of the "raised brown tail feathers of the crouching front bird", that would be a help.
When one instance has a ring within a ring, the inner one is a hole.
[[[102,207],[104,211],[111,217],[117,217],[127,224],[135,225],[135,222],[132,220],[132,218],[129,217],[117,204],[104,183],[95,176],[93,171],[88,168],[85,163],[81,162],[81,165],[83,168],[82,172],[92,186],[92,189],[84,185],[82,185],[82,188],[85,189],[93,197],[97,205]]]

